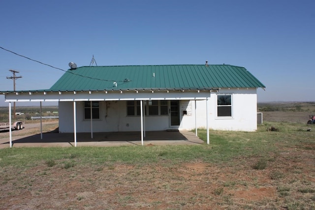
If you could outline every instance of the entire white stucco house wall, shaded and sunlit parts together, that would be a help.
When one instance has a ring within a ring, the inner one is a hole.
[[[232,95],[232,117],[217,117],[217,95]],[[77,132],[90,132],[91,121],[84,120],[84,102],[76,102]],[[196,101],[197,127],[206,127],[206,100]],[[183,111],[188,111],[183,115]],[[73,102],[59,102],[59,131],[73,132]],[[195,128],[195,102],[182,100],[179,129]],[[212,92],[208,107],[209,127],[215,130],[255,131],[257,129],[256,89],[231,89]],[[169,128],[169,116],[146,116],[145,129]],[[140,117],[126,116],[126,101],[100,101],[100,119],[93,120],[94,132],[140,131]]]

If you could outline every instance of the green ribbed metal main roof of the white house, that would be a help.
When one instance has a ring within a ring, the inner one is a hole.
[[[225,64],[82,66],[67,70],[49,91],[219,88],[265,86],[246,68]]]

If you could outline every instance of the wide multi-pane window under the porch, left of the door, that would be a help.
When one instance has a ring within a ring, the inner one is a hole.
[[[140,115],[140,101],[127,101],[127,116]],[[168,115],[167,101],[148,100],[144,101],[144,115]]]

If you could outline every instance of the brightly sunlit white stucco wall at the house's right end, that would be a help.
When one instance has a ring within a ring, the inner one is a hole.
[[[232,95],[232,117],[217,117],[217,95]],[[182,127],[194,129],[194,101],[193,115],[184,116]],[[196,101],[197,127],[206,128],[206,101]],[[214,130],[255,131],[257,130],[257,95],[256,89],[220,90],[211,93],[208,107],[209,127]]]

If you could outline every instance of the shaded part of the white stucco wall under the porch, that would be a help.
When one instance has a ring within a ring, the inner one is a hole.
[[[84,120],[84,102],[76,102],[77,132],[91,132],[91,120]],[[146,116],[146,130],[165,130],[168,116]],[[59,102],[59,132],[73,132],[73,102]],[[100,119],[93,120],[94,132],[140,131],[140,117],[126,116],[126,101],[100,101]]]

